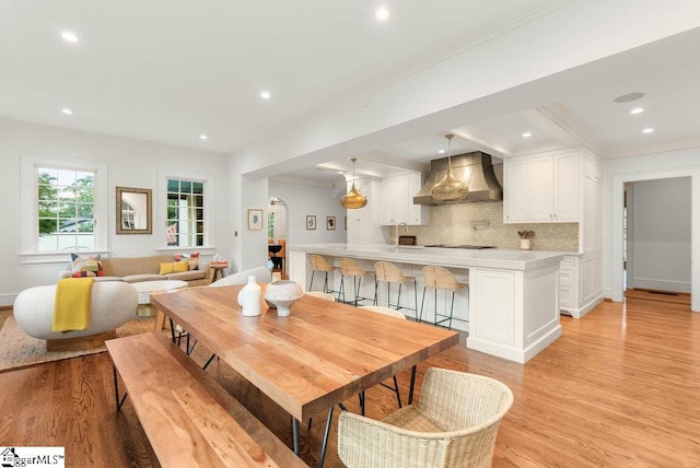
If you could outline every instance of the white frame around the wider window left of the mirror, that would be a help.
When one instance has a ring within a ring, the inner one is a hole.
[[[70,250],[38,249],[38,177],[37,169],[40,167],[52,167],[69,171],[92,172],[95,174],[94,187],[94,246],[90,250],[80,250],[81,254],[101,254],[108,251],[108,190],[107,180],[108,166],[92,161],[65,160],[56,157],[36,156],[32,154],[22,155],[21,168],[21,194],[20,223],[22,236],[20,245],[20,257],[23,264],[62,262]]]

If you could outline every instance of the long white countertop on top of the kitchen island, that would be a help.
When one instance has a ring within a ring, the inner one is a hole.
[[[533,270],[559,264],[562,251],[508,250],[500,248],[445,248],[385,244],[307,244],[290,245],[288,250],[355,257],[370,260],[388,260],[406,264],[438,265],[452,268],[499,268],[505,270]]]

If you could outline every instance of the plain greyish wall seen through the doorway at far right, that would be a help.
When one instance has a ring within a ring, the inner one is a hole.
[[[690,177],[631,185],[628,288],[690,292]]]

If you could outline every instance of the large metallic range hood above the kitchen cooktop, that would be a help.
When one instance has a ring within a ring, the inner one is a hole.
[[[503,189],[495,179],[491,155],[475,151],[474,153],[452,156],[452,173],[459,180],[469,185],[469,194],[460,200],[439,201],[430,195],[430,189],[447,174],[447,157],[430,162],[430,174],[423,188],[413,196],[413,204],[468,203],[470,201],[503,200]]]

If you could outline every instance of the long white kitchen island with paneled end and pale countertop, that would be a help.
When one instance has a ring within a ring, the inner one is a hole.
[[[447,268],[460,282],[469,283],[468,292],[460,293],[455,300],[457,320],[454,325],[454,328],[469,332],[469,349],[525,363],[561,336],[561,253],[363,244],[292,245],[288,250],[290,279],[298,281],[304,290],[308,290],[311,279],[310,254],[323,255],[336,265],[341,257],[349,257],[368,270],[374,269],[375,261],[392,261],[405,274],[417,278],[416,291],[404,292],[401,305],[417,306],[419,311],[423,292],[422,268],[427,265]],[[335,290],[339,281],[339,272],[336,278],[329,278]],[[314,289],[319,284],[314,282]],[[362,295],[374,295],[373,279],[364,281]],[[422,319],[427,321],[432,321],[435,313],[432,297],[432,294],[425,297]],[[380,296],[381,305],[384,305],[383,299]],[[446,295],[441,296],[438,308],[444,312],[448,302]],[[459,320],[465,325],[456,325]]]

